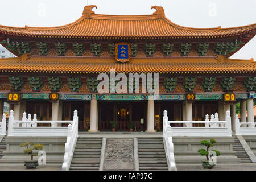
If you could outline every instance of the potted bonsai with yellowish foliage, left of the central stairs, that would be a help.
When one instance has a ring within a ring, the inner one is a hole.
[[[36,169],[38,166],[38,161],[33,160],[33,156],[37,156],[38,154],[33,153],[34,150],[42,150],[44,146],[42,144],[34,144],[33,148],[28,148],[30,145],[30,142],[22,143],[20,144],[20,147],[26,147],[26,149],[23,150],[24,154],[30,155],[31,160],[25,160],[24,166],[26,166],[26,169]]]

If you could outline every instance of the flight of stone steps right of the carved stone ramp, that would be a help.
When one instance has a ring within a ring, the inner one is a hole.
[[[139,170],[167,170],[162,137],[138,137]]]

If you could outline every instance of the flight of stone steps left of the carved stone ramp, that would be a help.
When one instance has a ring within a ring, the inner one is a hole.
[[[93,171],[100,168],[102,137],[78,137],[69,170]]]

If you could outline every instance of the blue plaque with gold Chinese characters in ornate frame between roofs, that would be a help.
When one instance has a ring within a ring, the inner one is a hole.
[[[119,62],[125,63],[130,61],[131,47],[130,43],[115,44],[115,59]]]

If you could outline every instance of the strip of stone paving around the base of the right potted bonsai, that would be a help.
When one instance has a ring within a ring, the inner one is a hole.
[[[217,165],[214,169],[204,169],[201,165],[179,165],[178,171],[256,171],[256,163]]]

